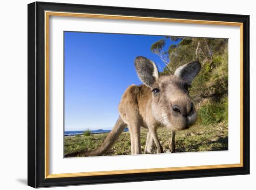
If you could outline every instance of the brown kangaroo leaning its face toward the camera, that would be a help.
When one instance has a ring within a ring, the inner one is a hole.
[[[189,98],[188,88],[201,70],[201,64],[193,61],[176,69],[173,75],[160,76],[155,63],[145,57],[135,59],[135,69],[143,85],[130,85],[123,93],[118,105],[119,118],[100,148],[65,155],[100,156],[107,152],[128,127],[131,153],[141,154],[141,127],[148,129],[146,153],[163,153],[157,138],[157,128],[172,131],[170,149],[175,152],[175,131],[184,130],[195,124],[197,113]]]

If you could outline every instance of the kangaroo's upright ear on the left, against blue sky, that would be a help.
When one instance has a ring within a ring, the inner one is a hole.
[[[141,82],[149,87],[152,87],[159,78],[158,69],[155,63],[145,57],[136,57],[135,68]]]

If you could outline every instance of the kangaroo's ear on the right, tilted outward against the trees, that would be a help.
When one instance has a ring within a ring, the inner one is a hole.
[[[193,61],[183,66],[179,66],[174,72],[174,74],[191,84],[191,82],[193,81],[195,76],[200,72],[200,70],[201,64],[198,61]]]

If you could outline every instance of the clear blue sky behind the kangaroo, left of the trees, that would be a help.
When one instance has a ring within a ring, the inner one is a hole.
[[[144,56],[164,67],[150,51],[164,36],[64,32],[65,131],[112,129],[125,89],[140,85],[134,60]],[[173,42],[167,40],[168,49]],[[160,69],[161,70],[161,69]]]

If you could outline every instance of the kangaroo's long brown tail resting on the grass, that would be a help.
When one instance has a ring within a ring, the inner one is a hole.
[[[78,151],[70,154],[66,154],[65,157],[90,157],[90,156],[101,156],[107,152],[117,138],[121,135],[122,131],[127,127],[127,124],[123,122],[121,117],[119,117],[115,123],[114,128],[109,132],[107,138],[101,144],[101,147],[93,151]]]

